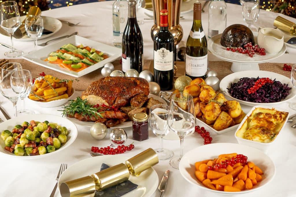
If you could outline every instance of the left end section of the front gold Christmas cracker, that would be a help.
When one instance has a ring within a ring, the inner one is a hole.
[[[95,190],[96,183],[91,176],[63,182],[60,186],[60,193],[62,197],[94,196]]]

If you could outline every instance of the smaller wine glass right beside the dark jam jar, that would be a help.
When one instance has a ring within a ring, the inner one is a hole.
[[[170,129],[168,128],[168,105],[153,105],[149,110],[149,124],[153,133],[159,137],[159,148],[155,150],[159,160],[169,159],[173,152],[163,149],[163,137]]]

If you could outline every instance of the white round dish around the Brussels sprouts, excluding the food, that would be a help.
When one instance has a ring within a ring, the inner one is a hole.
[[[5,147],[4,141],[2,139],[0,139],[0,154],[6,155],[9,157],[18,157],[20,159],[46,158],[46,157],[50,157],[50,156],[54,155],[57,152],[60,152],[64,149],[66,149],[68,146],[70,146],[75,141],[75,139],[77,137],[78,131],[77,131],[77,127],[75,126],[74,123],[67,120],[66,118],[62,118],[60,116],[50,115],[50,114],[23,115],[23,116],[19,116],[17,118],[9,119],[9,120],[4,121],[3,123],[0,124],[0,131],[4,131],[6,129],[9,131],[12,131],[12,129],[14,128],[15,125],[17,125],[17,124],[22,125],[22,123],[24,121],[30,122],[31,120],[39,121],[39,122],[49,121],[49,123],[57,123],[60,126],[65,126],[67,128],[67,130],[69,131],[69,133],[67,135],[67,142],[65,144],[62,144],[59,149],[57,149],[56,151],[51,152],[51,153],[35,155],[35,156],[16,156],[15,154],[10,153],[9,151],[4,149],[4,147]]]

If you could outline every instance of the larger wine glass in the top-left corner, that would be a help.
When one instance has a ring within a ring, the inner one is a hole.
[[[4,1],[1,3],[1,23],[0,26],[10,34],[11,50],[4,53],[6,57],[19,57],[22,51],[13,48],[12,35],[20,27],[20,12],[15,1]]]

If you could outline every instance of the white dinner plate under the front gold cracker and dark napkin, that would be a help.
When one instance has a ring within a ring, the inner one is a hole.
[[[103,155],[81,160],[68,167],[67,170],[62,173],[58,181],[58,187],[60,188],[61,183],[65,181],[74,180],[99,172],[102,163],[112,167],[124,163],[127,159],[129,159],[129,157],[121,155]],[[158,185],[158,176],[152,167],[143,171],[137,177],[130,176],[128,180],[137,184],[138,187],[124,194],[123,197],[149,197],[155,192]]]

